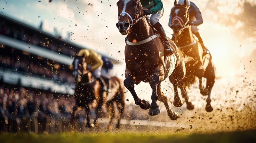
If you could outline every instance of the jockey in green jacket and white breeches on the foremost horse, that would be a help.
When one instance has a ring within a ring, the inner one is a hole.
[[[173,54],[173,50],[165,34],[164,27],[159,23],[159,19],[164,14],[163,3],[161,0],[140,0],[140,3],[144,9],[144,13],[147,15],[147,20],[156,29],[161,38],[164,41],[164,56]],[[151,17],[148,16],[151,14]]]

